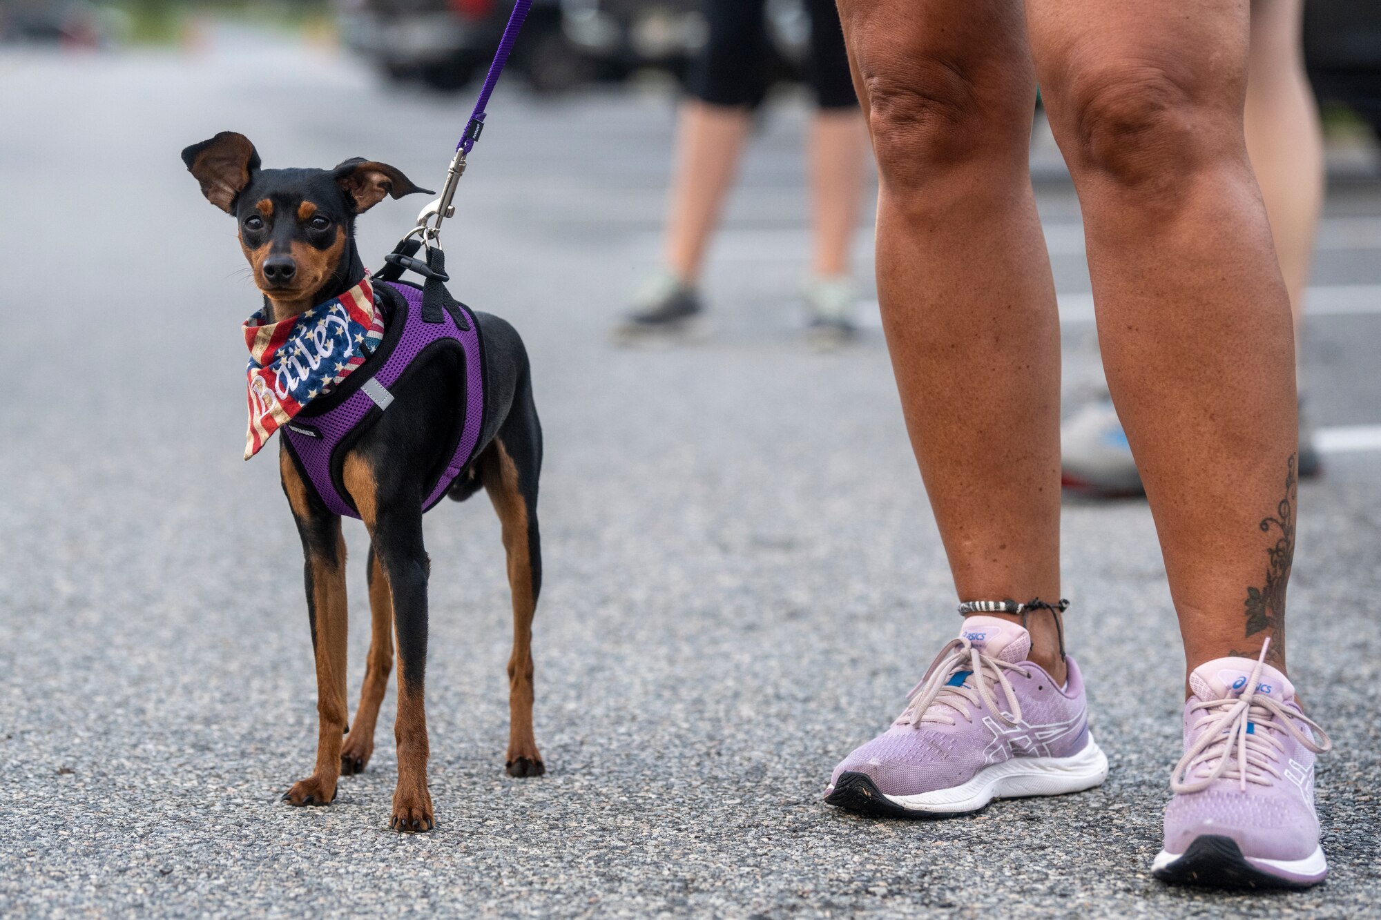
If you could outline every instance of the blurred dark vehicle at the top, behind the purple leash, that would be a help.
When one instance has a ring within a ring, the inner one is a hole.
[[[493,59],[512,0],[341,0],[347,47],[392,79],[458,90]],[[510,66],[537,91],[590,77],[592,65],[561,29],[561,0],[533,0]]]

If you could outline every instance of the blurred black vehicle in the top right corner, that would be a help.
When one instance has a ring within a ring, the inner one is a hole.
[[[1381,3],[1309,0],[1304,55],[1319,98],[1342,102],[1381,137]]]

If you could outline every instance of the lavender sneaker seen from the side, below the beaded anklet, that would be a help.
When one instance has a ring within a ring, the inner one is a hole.
[[[870,815],[956,815],[1102,783],[1108,758],[1088,734],[1079,666],[1068,659],[1062,688],[1029,652],[1021,626],[969,616],[892,727],[834,768],[824,801]]]

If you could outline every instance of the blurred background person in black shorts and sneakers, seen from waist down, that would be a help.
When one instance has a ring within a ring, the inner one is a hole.
[[[805,6],[811,15],[807,76],[819,106],[809,133],[815,253],[805,297],[812,334],[830,344],[851,337],[855,329],[849,243],[863,192],[867,133],[834,3],[808,0]],[[690,98],[681,106],[664,265],[619,323],[620,341],[679,334],[704,309],[699,279],[706,247],[753,113],[768,91],[765,7],[765,0],[704,3],[708,40],[688,75]]]

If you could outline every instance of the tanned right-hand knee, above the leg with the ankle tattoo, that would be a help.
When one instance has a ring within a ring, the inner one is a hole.
[[[1068,88],[1052,87],[1051,120],[1076,178],[1095,174],[1127,189],[1174,195],[1242,146],[1233,109],[1240,93],[1206,75],[1113,64],[1076,73]]]

